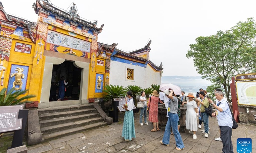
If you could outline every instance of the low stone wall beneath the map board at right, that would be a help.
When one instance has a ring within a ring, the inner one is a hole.
[[[229,103],[232,111],[233,106],[232,103]],[[256,115],[256,106],[250,106],[250,105],[238,105],[238,111],[241,115],[246,115],[249,122],[256,124],[255,116]],[[246,118],[239,118],[241,123],[246,123]]]

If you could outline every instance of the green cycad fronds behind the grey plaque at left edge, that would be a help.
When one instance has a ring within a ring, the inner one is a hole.
[[[20,105],[24,103],[28,103],[31,101],[27,101],[28,98],[36,97],[35,95],[27,95],[20,97],[21,95],[25,94],[28,90],[15,90],[15,88],[12,88],[7,94],[6,94],[6,88],[3,88],[0,91],[0,106],[11,106],[11,105]]]

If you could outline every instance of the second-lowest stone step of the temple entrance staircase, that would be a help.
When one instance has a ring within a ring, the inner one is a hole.
[[[56,128],[59,128],[59,127],[63,127],[63,128],[65,127],[66,129],[68,129],[69,127],[76,126],[76,122],[79,122],[79,123],[81,123],[81,126],[84,126],[83,124],[88,123],[90,121],[101,122],[101,121],[103,121],[103,118],[96,117],[96,118],[92,118],[92,119],[78,120],[78,121],[74,121],[74,122],[68,122],[68,123],[57,124],[57,125],[53,125],[53,126],[49,126],[49,127],[44,127],[44,128],[41,128],[41,133],[44,133],[44,131],[46,131],[46,130],[56,129]]]

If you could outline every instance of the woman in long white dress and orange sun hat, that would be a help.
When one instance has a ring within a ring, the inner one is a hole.
[[[193,100],[195,98],[193,93],[188,94],[187,100],[187,112],[186,112],[186,128],[189,131],[188,133],[193,134],[193,139],[196,139],[196,131],[197,131],[197,119],[196,113],[198,113],[196,101]]]

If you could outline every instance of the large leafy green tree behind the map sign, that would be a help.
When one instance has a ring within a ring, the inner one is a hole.
[[[193,58],[194,66],[203,79],[222,86],[227,100],[231,102],[231,78],[256,70],[255,36],[256,23],[253,18],[248,18],[230,30],[196,38],[196,44],[189,45],[186,56]]]

